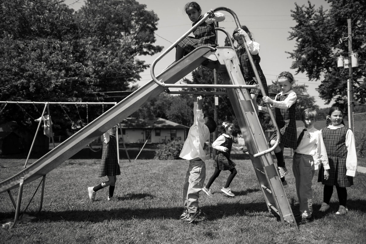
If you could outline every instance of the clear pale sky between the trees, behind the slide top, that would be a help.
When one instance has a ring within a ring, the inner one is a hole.
[[[102,1],[102,0],[101,0]],[[155,32],[155,45],[164,46],[167,49],[173,42],[178,40],[192,26],[187,14],[184,12],[184,6],[188,1],[182,0],[140,0],[140,4],[145,4],[147,10],[153,10],[158,18],[158,30]],[[308,94],[315,98],[315,104],[320,108],[326,108],[330,105],[325,105],[324,100],[321,100],[319,93],[315,90],[320,85],[319,81],[310,81],[306,74],[295,75],[296,70],[290,69],[294,60],[289,58],[289,54],[285,52],[293,52],[296,42],[287,40],[290,36],[291,27],[296,25],[296,22],[291,17],[291,10],[295,9],[295,2],[299,5],[307,5],[307,0],[210,0],[196,1],[202,9],[202,12],[207,12],[210,9],[217,7],[226,7],[235,12],[238,16],[240,25],[246,25],[254,40],[261,45],[259,56],[261,57],[261,68],[266,76],[268,85],[276,79],[276,76],[281,71],[290,71],[295,78],[296,84],[307,87]],[[78,10],[84,4],[84,0],[66,0],[70,8]],[[315,8],[323,5],[324,9],[329,7],[325,0],[311,0],[311,4],[315,4]],[[113,11],[113,10],[112,10]],[[228,12],[221,11],[226,18],[223,22],[219,22],[219,27],[225,28],[230,34],[236,28],[234,18]],[[193,34],[191,34],[193,36]],[[219,45],[224,45],[225,35],[219,32]],[[153,61],[160,55],[154,56],[139,56],[141,60],[145,60],[147,64],[152,64]],[[175,49],[163,57],[155,66],[154,73],[159,74],[169,63],[175,59]],[[336,60],[336,57],[335,57]],[[142,72],[141,80],[138,85],[142,86],[151,80],[150,69]],[[190,79],[191,75],[186,78]],[[173,90],[173,89],[171,89]]]

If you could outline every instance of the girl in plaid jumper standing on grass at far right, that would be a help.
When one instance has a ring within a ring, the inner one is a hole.
[[[339,107],[332,107],[326,117],[326,127],[321,129],[329,161],[329,177],[324,178],[324,168],[320,165],[318,182],[324,185],[323,198],[319,211],[329,210],[333,185],[336,186],[339,209],[336,214],[346,214],[348,209],[347,188],[353,185],[353,177],[357,169],[355,138],[350,128],[343,122],[343,111]]]

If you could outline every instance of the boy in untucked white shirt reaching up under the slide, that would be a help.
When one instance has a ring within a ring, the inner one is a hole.
[[[194,102],[193,106],[194,123],[189,129],[187,139],[179,155],[179,157],[189,160],[183,186],[184,211],[180,215],[180,219],[184,219],[188,223],[194,222],[201,214],[198,198],[206,178],[206,153],[203,146],[209,139],[210,133],[216,129],[216,122],[212,117],[203,117],[202,103],[202,97],[197,97],[197,102]]]

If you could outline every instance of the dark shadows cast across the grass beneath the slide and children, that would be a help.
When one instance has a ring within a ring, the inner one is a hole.
[[[256,191],[254,189],[254,191]],[[75,211],[41,211],[39,214],[27,213],[36,216],[39,221],[86,221],[86,222],[103,222],[105,220],[111,219],[122,219],[128,220],[131,218],[135,219],[179,219],[182,213],[182,207],[172,207],[172,208],[124,208],[123,201],[128,199],[143,199],[143,198],[153,197],[150,194],[131,194],[123,197],[119,197],[118,201],[111,202],[115,204],[115,209],[112,210],[75,210]],[[299,213],[299,205],[291,201],[291,208],[293,213],[296,215]],[[90,203],[93,204],[93,203]],[[96,203],[94,203],[96,204]],[[324,218],[327,214],[335,215],[338,210],[339,203],[331,202],[330,210],[326,213],[319,212],[321,204],[313,204],[313,216],[307,221],[315,221],[316,219]],[[366,201],[365,200],[349,200],[347,207],[350,211],[362,211],[366,213]],[[211,206],[203,206],[201,208],[203,211],[203,216],[208,221],[214,221],[216,219],[221,219],[227,216],[273,216],[277,221],[280,221],[280,217],[277,214],[270,214],[266,207],[265,202],[250,202],[250,203],[227,203],[227,204],[217,204]],[[4,218],[14,218],[14,213],[0,213],[0,219]],[[301,224],[301,223],[299,223]]]

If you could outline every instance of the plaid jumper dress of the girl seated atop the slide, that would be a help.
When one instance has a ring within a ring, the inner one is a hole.
[[[194,26],[202,18],[203,15],[200,15],[197,21],[192,24],[192,26]],[[213,22],[210,24],[203,22],[193,31],[193,34],[194,37],[186,37],[178,44],[186,51],[186,53],[192,52],[195,48],[198,48],[199,46],[217,46],[216,32]]]

